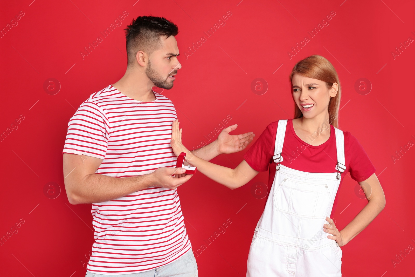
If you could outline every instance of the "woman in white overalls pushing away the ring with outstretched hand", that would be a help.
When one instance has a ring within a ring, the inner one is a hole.
[[[269,124],[235,169],[195,157],[181,143],[177,120],[171,145],[176,155],[186,152],[186,162],[230,189],[269,168],[272,186],[249,249],[247,277],[341,277],[340,247],[380,213],[385,196],[363,147],[337,128],[341,88],[332,64],[309,56],[295,64],[290,82],[294,119]],[[347,172],[369,202],[340,231],[332,214]]]

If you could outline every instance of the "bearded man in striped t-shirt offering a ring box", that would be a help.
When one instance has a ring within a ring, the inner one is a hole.
[[[124,76],[79,106],[63,149],[69,202],[92,203],[95,243],[86,276],[198,276],[176,191],[193,175],[175,168],[174,105],[151,89],[171,89],[181,69],[178,27],[142,16],[125,30]],[[254,134],[229,135],[236,127],[193,152],[210,160],[245,149]]]

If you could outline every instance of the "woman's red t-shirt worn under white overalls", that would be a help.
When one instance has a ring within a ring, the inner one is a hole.
[[[278,121],[266,126],[264,132],[244,154],[245,161],[256,171],[267,171],[269,169],[268,191],[271,189],[276,171],[276,163],[273,162],[272,157],[274,155],[277,127]],[[304,172],[337,172],[335,169],[337,164],[336,135],[334,126],[330,125],[330,128],[330,138],[321,145],[313,146],[304,142],[295,134],[293,120],[288,119],[281,153],[283,156],[281,164]],[[343,131],[343,133],[346,170],[342,173],[330,218],[333,218],[336,210],[340,186],[347,172],[350,172],[350,176],[358,182],[366,180],[376,172],[376,168],[356,137],[350,132]]]

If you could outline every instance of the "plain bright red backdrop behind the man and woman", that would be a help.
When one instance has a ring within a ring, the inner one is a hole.
[[[0,236],[10,235],[21,219],[24,223],[0,246],[2,275],[85,275],[93,243],[91,205],[68,203],[61,152],[68,120],[78,106],[124,74],[123,29],[139,15],[166,17],[179,27],[176,39],[183,67],[174,88],[162,93],[176,105],[189,149],[208,142],[204,136],[220,127],[227,115],[232,120],[226,126],[238,124],[233,133],[253,131],[257,136],[269,123],[292,118],[291,69],[312,54],[326,57],[342,85],[339,128],[363,145],[387,202],[375,220],[342,247],[343,275],[413,274],[414,250],[406,256],[400,251],[415,246],[415,149],[407,146],[396,156],[401,147],[415,142],[415,45],[396,50],[409,37],[415,38],[413,1],[6,1],[0,28],[20,11],[24,16],[17,26],[0,38],[0,132],[17,128],[1,140]],[[122,25],[82,59],[84,47],[124,11],[128,16]],[[204,32],[228,11],[232,15],[225,26],[207,38]],[[311,37],[308,32],[332,11],[330,24]],[[186,59],[188,47],[202,36],[206,42]],[[288,52],[306,36],[310,42],[290,59]],[[59,93],[46,93],[48,78],[57,79]],[[266,93],[251,90],[255,78],[266,81]],[[359,78],[369,80],[370,93],[355,90]],[[20,115],[24,119],[13,124]],[[235,167],[245,151],[222,154],[212,162]],[[195,174],[178,188],[194,251],[207,245],[205,239],[228,218],[232,220],[226,233],[196,256],[201,277],[246,275],[249,245],[264,208],[264,199],[255,198],[251,186],[266,183],[267,177],[258,174],[245,186],[230,190]],[[44,192],[49,182],[56,183],[50,194],[61,190],[54,199]],[[356,184],[347,175],[334,214],[339,230],[367,203],[355,191]]]

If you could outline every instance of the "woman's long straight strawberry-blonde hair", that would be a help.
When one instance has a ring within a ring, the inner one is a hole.
[[[331,88],[333,83],[338,83],[339,88],[337,94],[330,98],[329,102],[329,124],[338,128],[339,125],[339,106],[340,98],[342,96],[342,88],[340,86],[339,76],[337,76],[336,69],[325,57],[320,55],[312,55],[301,61],[298,61],[290,74],[291,95],[293,93],[293,76],[300,74],[308,78],[313,78],[326,82],[327,88]],[[294,103],[294,119],[300,118],[303,113]]]

